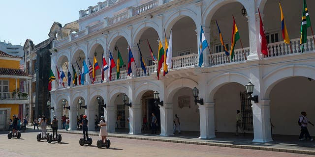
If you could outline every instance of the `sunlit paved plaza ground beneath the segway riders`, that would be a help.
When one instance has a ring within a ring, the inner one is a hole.
[[[135,140],[110,137],[109,149],[98,149],[93,138],[92,146],[79,145],[79,134],[63,133],[61,143],[47,143],[46,140],[36,141],[38,132],[22,133],[21,139],[7,139],[0,134],[0,157],[311,157],[311,155],[270,152],[183,143]]]

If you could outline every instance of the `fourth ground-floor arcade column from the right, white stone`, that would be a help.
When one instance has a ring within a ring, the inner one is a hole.
[[[141,133],[141,105],[134,105],[129,107],[129,134]]]

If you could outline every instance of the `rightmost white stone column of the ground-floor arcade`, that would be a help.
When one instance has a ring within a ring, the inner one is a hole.
[[[270,128],[270,101],[260,100],[259,103],[252,101],[252,114],[254,126],[253,142],[270,142],[273,141],[271,137]]]

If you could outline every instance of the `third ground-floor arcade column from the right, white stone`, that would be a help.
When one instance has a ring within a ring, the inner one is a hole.
[[[161,136],[173,134],[173,104],[160,106]]]

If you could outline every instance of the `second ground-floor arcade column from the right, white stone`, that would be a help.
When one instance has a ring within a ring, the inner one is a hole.
[[[200,137],[201,139],[215,138],[215,109],[214,103],[199,105]]]

